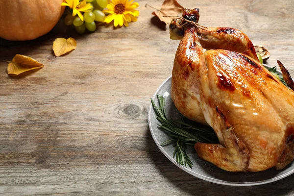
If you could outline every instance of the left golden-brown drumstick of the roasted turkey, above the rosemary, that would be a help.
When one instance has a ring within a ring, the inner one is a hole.
[[[195,29],[189,29],[185,39],[182,39],[176,51],[172,69],[171,96],[177,109],[186,118],[207,124],[200,108],[200,83],[195,71],[197,65],[205,65],[203,49],[198,43],[194,46]],[[191,35],[190,35],[191,34]]]

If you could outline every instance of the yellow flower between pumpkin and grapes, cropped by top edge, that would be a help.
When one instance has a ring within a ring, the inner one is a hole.
[[[79,2],[79,0],[65,0],[66,2],[61,3],[63,6],[69,6],[71,9],[73,9],[73,16],[76,14],[78,17],[84,21],[84,17],[81,12],[89,12],[91,11],[91,3],[87,3],[86,0],[82,0]]]

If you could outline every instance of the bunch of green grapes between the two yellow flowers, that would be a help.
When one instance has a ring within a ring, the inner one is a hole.
[[[84,12],[84,21],[82,21],[77,15],[73,16],[70,10],[67,12],[64,23],[65,25],[73,25],[75,30],[83,34],[86,31],[86,28],[93,32],[96,30],[96,23],[103,22],[105,19],[105,14],[101,11],[103,10],[108,3],[108,0],[86,0],[88,3],[91,3],[92,8],[90,12]]]

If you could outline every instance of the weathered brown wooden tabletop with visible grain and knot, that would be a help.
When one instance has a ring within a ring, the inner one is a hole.
[[[293,0],[179,0],[200,8],[201,25],[234,27],[294,75]],[[67,33],[62,21],[29,42],[1,40],[0,59],[16,53],[45,66],[15,79],[0,62],[0,195],[293,196],[294,175],[268,185],[230,187],[200,180],[156,147],[147,122],[150,99],[172,73],[178,41],[139,1],[138,22],[95,33]],[[54,57],[57,37],[77,48]],[[6,46],[6,47],[3,47]]]

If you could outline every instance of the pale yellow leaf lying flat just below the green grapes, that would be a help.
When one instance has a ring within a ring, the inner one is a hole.
[[[76,41],[73,38],[64,39],[64,38],[57,38],[53,42],[52,49],[54,51],[55,56],[61,56],[67,52],[72,51],[76,48]]]

